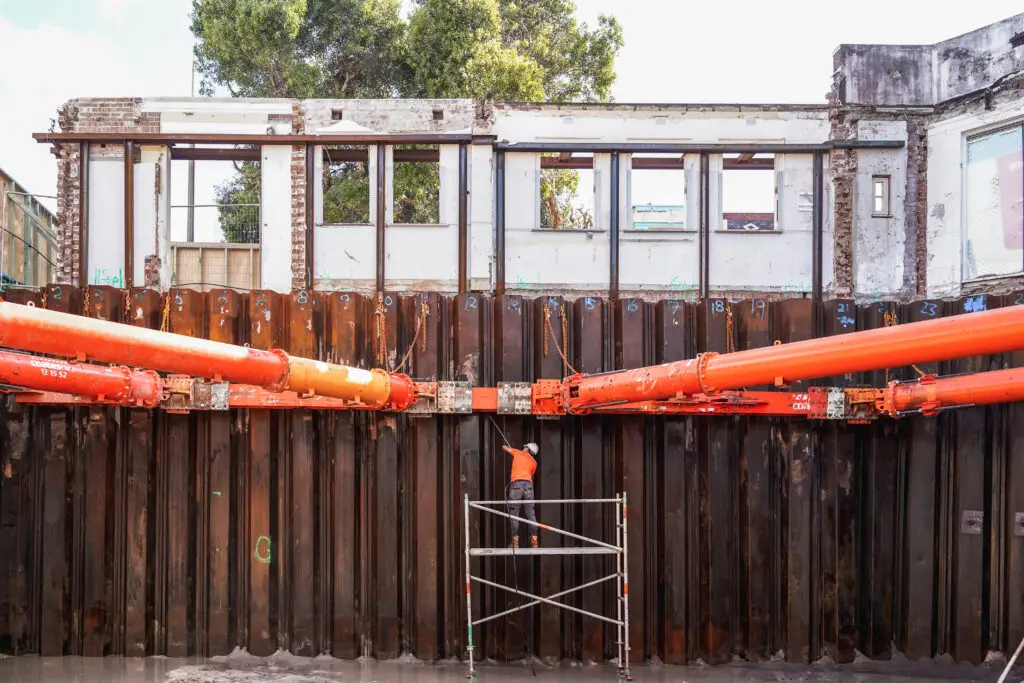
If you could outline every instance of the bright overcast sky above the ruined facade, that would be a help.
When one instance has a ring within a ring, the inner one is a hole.
[[[618,17],[617,101],[823,102],[840,43],[933,43],[1013,15],[1020,0],[578,0]],[[53,195],[32,133],[79,96],[188,95],[191,0],[0,0],[0,167]],[[201,198],[197,198],[199,201]],[[55,203],[54,203],[55,207]]]

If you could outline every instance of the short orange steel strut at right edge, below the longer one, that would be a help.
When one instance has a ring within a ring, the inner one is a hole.
[[[942,408],[1018,400],[1024,400],[1024,368],[956,377],[926,375],[913,382],[892,382],[877,405],[880,413],[895,418],[912,411],[934,415]]]

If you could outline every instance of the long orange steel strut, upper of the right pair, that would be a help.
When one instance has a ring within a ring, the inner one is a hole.
[[[1024,306],[951,315],[605,375],[570,377],[560,395],[569,413],[598,405],[714,394],[761,384],[899,368],[1024,347]]]

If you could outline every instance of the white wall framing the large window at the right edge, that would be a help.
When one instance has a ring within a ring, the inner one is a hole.
[[[964,166],[967,138],[1024,121],[1024,96],[988,112],[951,117],[928,127],[927,291],[959,296],[964,279]]]

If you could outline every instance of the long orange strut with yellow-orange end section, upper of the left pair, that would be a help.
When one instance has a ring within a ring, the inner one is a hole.
[[[416,400],[406,375],[359,370],[169,332],[0,301],[0,346],[78,359],[223,379],[403,411]]]

